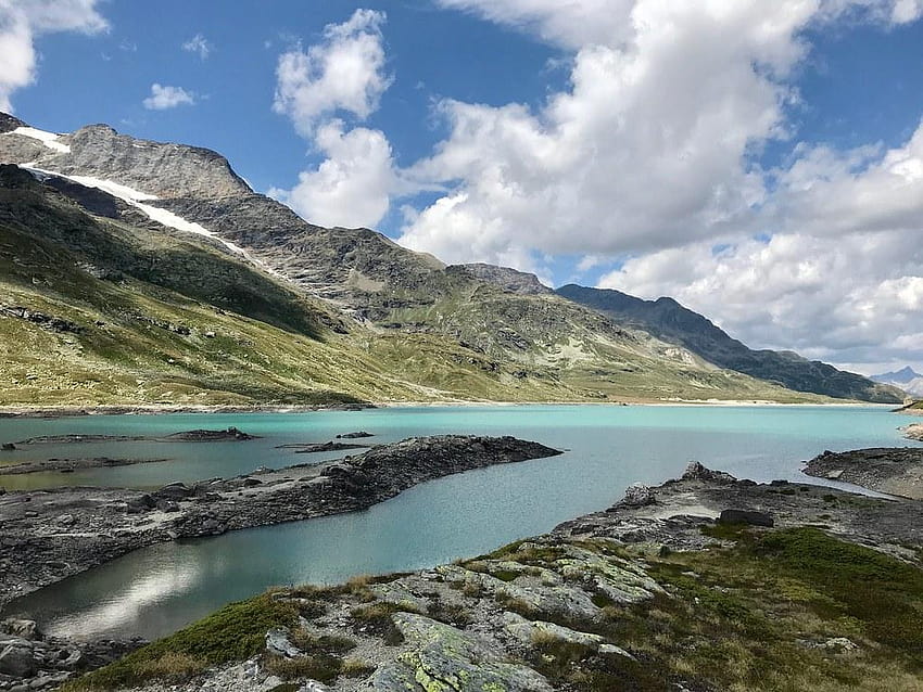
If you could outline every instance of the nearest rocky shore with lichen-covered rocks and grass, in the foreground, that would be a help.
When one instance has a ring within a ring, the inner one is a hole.
[[[226,606],[67,690],[920,690],[923,503],[692,464],[432,571]]]

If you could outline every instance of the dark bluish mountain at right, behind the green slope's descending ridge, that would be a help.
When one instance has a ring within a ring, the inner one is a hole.
[[[837,370],[792,351],[754,350],[729,336],[707,318],[672,298],[643,300],[620,291],[569,284],[557,294],[599,310],[614,320],[642,329],[665,342],[687,348],[719,368],[774,382],[796,392],[877,403],[899,403],[902,393],[887,384]]]

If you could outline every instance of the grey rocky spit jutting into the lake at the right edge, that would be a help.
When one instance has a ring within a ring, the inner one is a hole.
[[[920,447],[825,451],[807,462],[802,471],[818,478],[923,499],[923,448]]]

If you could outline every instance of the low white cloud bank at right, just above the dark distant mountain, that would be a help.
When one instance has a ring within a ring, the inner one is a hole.
[[[755,347],[850,363],[923,358],[923,342],[903,338],[923,324],[923,246],[901,231],[781,233],[722,252],[693,243],[630,259],[599,285],[672,296]]]

